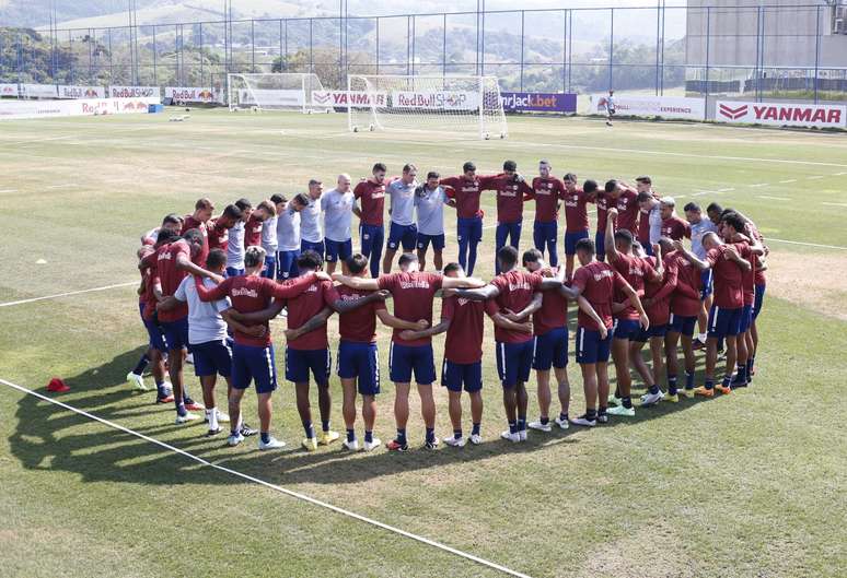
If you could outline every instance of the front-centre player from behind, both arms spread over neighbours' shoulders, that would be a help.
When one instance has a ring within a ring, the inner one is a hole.
[[[403,253],[398,260],[399,272],[376,279],[339,275],[335,280],[351,288],[376,291],[387,290],[394,300],[394,316],[409,323],[419,322],[418,329],[432,325],[432,299],[440,288],[480,287],[478,279],[445,278],[439,273],[425,273],[418,270],[418,258],[413,253]],[[411,329],[411,328],[407,328]],[[397,437],[386,446],[393,451],[406,451],[406,423],[409,417],[409,388],[413,374],[418,384],[420,411],[427,428],[425,447],[436,449],[436,401],[432,398],[432,382],[436,380],[436,364],[432,355],[432,339],[429,337],[407,341],[402,337],[403,329],[394,328],[388,370],[395,386],[394,417],[397,422]]]

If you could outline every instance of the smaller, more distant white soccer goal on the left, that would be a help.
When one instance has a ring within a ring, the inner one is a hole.
[[[329,113],[332,108],[312,99],[323,91],[321,79],[313,73],[228,74],[230,110],[295,110]]]

